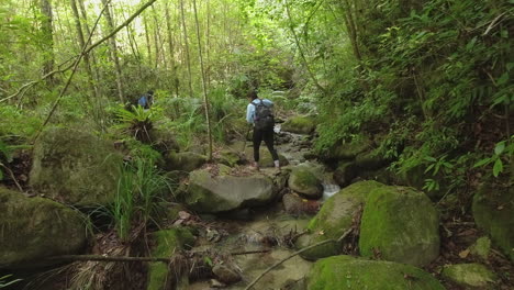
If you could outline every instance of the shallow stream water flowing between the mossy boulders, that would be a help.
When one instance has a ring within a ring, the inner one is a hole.
[[[327,172],[322,164],[305,160],[303,157],[310,150],[310,147],[306,146],[310,142],[306,142],[305,135],[281,132],[280,125],[275,127],[275,132],[281,136],[286,135],[286,138],[289,140],[288,143],[278,145],[277,150],[288,158],[290,166],[305,167],[323,180],[324,192],[322,201],[339,191],[339,187],[332,179],[332,174]],[[265,210],[253,212],[249,217],[246,221],[217,220],[216,222],[223,224],[228,235],[217,243],[213,244],[205,241],[194,248],[197,250],[210,248],[225,253],[271,248],[268,253],[234,256],[234,266],[241,271],[243,281],[224,289],[245,289],[249,282],[268,267],[294,253],[293,248],[280,245],[280,242],[278,245],[269,247],[262,241],[269,236],[282,237],[291,232],[302,232],[312,219],[311,215],[294,216],[286,213],[280,202]],[[282,289],[287,285],[302,279],[310,271],[311,267],[312,261],[295,256],[268,272],[257,282],[254,289]],[[209,281],[199,281],[191,283],[188,289],[206,290],[212,288],[210,288]]]

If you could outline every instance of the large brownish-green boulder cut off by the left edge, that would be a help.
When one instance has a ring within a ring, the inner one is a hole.
[[[46,257],[78,254],[87,242],[86,219],[55,201],[0,187],[0,269],[47,266]]]

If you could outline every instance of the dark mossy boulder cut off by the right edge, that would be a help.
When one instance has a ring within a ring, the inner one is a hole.
[[[514,261],[514,190],[483,185],[473,197],[472,212],[479,227]]]

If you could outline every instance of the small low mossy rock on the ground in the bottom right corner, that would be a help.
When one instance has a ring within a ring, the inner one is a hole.
[[[496,275],[480,264],[449,265],[443,269],[442,276],[466,289],[496,289]]]

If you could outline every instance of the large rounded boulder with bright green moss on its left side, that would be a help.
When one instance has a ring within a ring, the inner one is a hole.
[[[439,255],[439,220],[431,200],[404,187],[381,187],[368,198],[360,222],[360,254],[427,265]]]

